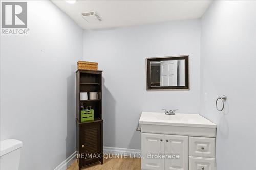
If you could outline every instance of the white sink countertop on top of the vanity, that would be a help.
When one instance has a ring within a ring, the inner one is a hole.
[[[199,114],[175,114],[166,115],[159,112],[142,112],[140,124],[152,125],[173,125],[173,126],[190,126],[190,127],[208,127],[216,128],[217,125],[210,122]]]

